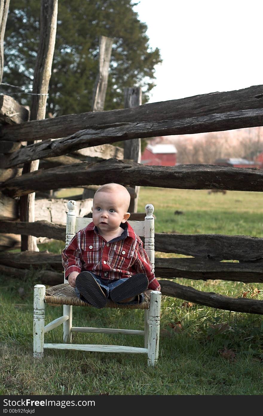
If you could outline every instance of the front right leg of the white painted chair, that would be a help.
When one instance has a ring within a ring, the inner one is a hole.
[[[160,335],[160,312],[161,292],[151,292],[149,311],[149,340],[148,340],[148,366],[154,366],[158,361],[159,335]]]

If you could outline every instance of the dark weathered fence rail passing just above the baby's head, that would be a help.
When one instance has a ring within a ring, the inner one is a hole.
[[[131,161],[108,159],[27,173],[3,182],[0,191],[7,196],[17,197],[34,191],[64,188],[65,184],[67,187],[102,185],[111,181],[130,186],[261,191],[263,171],[216,165],[144,166]]]

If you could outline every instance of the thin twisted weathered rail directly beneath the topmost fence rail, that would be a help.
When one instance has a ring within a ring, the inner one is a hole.
[[[63,139],[48,139],[34,143],[7,155],[5,161],[2,161],[2,167],[10,168],[25,161],[61,156],[89,146],[138,139],[139,137],[222,131],[228,130],[230,126],[232,129],[239,129],[247,126],[261,126],[262,124],[263,109],[231,111],[172,121],[112,124],[100,130],[80,130]]]

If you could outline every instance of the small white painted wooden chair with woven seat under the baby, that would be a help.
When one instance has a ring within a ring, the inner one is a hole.
[[[66,221],[66,247],[74,237],[75,233],[91,223],[91,218],[76,217],[76,202],[69,201]],[[146,216],[144,221],[129,221],[135,233],[145,237],[145,250],[152,263],[154,270],[154,217],[153,206],[145,206]],[[63,316],[45,325],[45,303],[59,303],[63,306]],[[108,300],[106,307],[121,309],[142,309],[144,310],[144,330],[135,329],[113,329],[113,328],[90,328],[72,326],[72,306],[91,307],[86,302],[79,300],[75,290],[64,279],[64,284],[51,287],[46,290],[44,285],[34,286],[34,357],[42,358],[44,349],[76,349],[94,352],[125,352],[147,354],[148,365],[154,366],[157,363],[159,351],[160,333],[160,308],[161,292],[152,291],[150,300],[140,305],[117,305]],[[63,344],[46,344],[44,334],[58,327],[63,323]],[[143,335],[144,348],[119,346],[119,345],[93,345],[93,344],[71,344],[73,332],[97,332],[105,334],[130,334]]]

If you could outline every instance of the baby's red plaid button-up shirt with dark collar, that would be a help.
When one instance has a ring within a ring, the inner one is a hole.
[[[104,279],[116,280],[136,273],[147,276],[148,288],[159,287],[143,242],[129,223],[120,237],[106,241],[98,235],[93,222],[80,230],[62,251],[62,265],[67,278],[71,272],[87,270]]]

